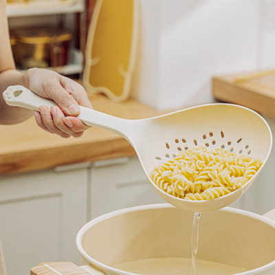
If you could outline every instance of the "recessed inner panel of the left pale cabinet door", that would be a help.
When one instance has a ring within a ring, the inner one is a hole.
[[[8,274],[16,274],[16,266],[28,274],[30,263],[61,258],[60,199],[60,195],[53,194],[0,204],[0,232]]]

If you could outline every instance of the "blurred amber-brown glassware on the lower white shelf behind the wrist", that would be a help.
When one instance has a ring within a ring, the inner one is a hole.
[[[72,47],[72,30],[37,25],[11,30],[10,43],[17,69],[52,69],[63,75],[81,74],[83,53]]]

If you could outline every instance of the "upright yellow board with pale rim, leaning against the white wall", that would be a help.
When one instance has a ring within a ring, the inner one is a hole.
[[[115,102],[129,97],[137,55],[140,1],[97,0],[89,25],[83,85]]]

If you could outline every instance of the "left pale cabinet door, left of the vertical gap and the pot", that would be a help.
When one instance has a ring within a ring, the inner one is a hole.
[[[78,264],[75,237],[87,219],[87,169],[0,177],[0,236],[8,275],[47,261]]]

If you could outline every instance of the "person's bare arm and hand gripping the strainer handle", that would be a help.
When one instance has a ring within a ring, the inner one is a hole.
[[[79,137],[88,128],[75,115],[79,105],[92,108],[85,89],[74,80],[47,69],[32,68],[24,74],[14,66],[5,0],[0,0],[0,124],[14,124],[30,118],[33,111],[9,107],[3,100],[3,91],[10,85],[23,85],[44,98],[54,100],[58,107],[51,110],[40,107],[34,112],[37,124],[50,133],[62,137]]]

